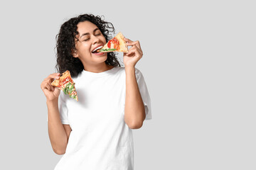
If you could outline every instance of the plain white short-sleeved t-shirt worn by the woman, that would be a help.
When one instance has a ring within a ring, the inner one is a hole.
[[[135,70],[146,120],[149,120],[149,91],[142,73]],[[55,170],[133,170],[132,129],[124,122],[124,67],[100,73],[83,70],[73,81],[78,101],[62,91],[59,96],[60,119],[72,131]]]

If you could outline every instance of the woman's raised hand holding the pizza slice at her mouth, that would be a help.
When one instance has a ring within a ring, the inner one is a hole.
[[[143,52],[139,41],[132,41],[124,38],[128,46],[132,46],[127,53],[124,53],[124,67],[135,67],[136,63],[142,58]]]

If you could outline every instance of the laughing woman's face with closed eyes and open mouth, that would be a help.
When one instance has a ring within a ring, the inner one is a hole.
[[[78,57],[83,64],[105,62],[107,60],[107,52],[92,52],[106,43],[106,39],[99,28],[90,21],[84,21],[78,23],[78,33],[78,41],[75,43],[76,52],[73,56]]]

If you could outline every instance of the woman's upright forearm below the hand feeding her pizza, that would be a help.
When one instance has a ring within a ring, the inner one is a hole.
[[[126,96],[124,107],[124,120],[130,128],[141,128],[145,119],[145,108],[134,67],[125,67],[126,72]]]

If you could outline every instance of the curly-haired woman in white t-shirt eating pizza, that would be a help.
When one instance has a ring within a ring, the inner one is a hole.
[[[63,23],[57,38],[58,72],[69,70],[79,101],[41,84],[48,107],[48,134],[53,151],[64,154],[55,170],[133,169],[132,129],[151,119],[151,101],[144,77],[135,64],[142,58],[139,41],[125,38],[124,67],[114,52],[92,53],[114,32],[100,16],[80,15]]]

